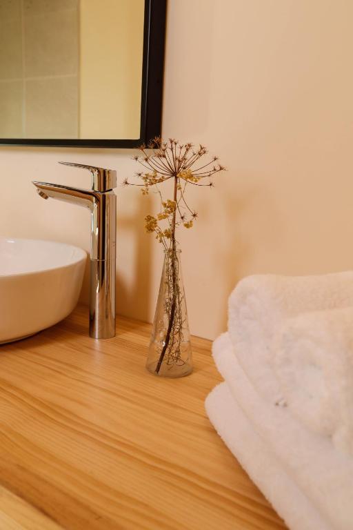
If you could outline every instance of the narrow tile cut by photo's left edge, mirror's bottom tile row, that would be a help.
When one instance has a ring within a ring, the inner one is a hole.
[[[23,82],[0,81],[0,137],[21,138]]]

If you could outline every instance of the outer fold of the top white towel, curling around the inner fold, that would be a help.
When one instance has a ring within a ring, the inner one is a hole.
[[[248,276],[230,295],[228,331],[239,362],[261,395],[281,400],[270,357],[274,332],[288,317],[353,306],[353,272]],[[259,363],[259,360],[261,362]]]

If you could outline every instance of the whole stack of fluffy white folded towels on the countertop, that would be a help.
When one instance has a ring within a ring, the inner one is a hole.
[[[206,411],[292,530],[353,529],[353,272],[251,276]]]

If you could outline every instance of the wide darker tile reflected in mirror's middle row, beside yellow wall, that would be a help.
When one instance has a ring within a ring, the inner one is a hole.
[[[26,77],[77,74],[77,11],[25,17],[24,24]]]

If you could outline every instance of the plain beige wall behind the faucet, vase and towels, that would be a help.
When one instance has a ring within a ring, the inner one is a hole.
[[[213,338],[241,277],[353,267],[353,2],[169,3],[163,133],[206,144],[228,166],[212,191],[193,190],[199,221],[180,237],[190,327]],[[131,155],[1,148],[1,233],[88,249],[89,213],[39,199],[30,180],[87,184],[60,159],[123,179]],[[117,193],[118,308],[150,320],[161,273],[161,249],[142,228],[152,199]]]

